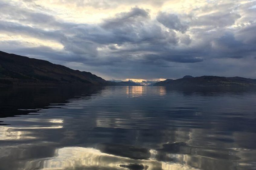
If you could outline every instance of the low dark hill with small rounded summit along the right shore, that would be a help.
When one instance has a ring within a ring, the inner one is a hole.
[[[155,83],[154,86],[168,86],[172,88],[203,88],[203,87],[256,87],[256,79],[247,79],[243,77],[219,77],[219,76],[184,76],[182,79],[167,79]]]

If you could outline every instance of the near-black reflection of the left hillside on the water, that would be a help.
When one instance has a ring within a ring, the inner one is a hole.
[[[0,117],[8,117],[37,112],[50,104],[65,104],[70,98],[81,94],[90,97],[104,87],[100,86],[62,86],[55,88],[4,87],[0,88]]]

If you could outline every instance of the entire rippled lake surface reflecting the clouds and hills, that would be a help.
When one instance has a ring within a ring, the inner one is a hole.
[[[1,170],[256,169],[255,92],[0,88],[0,108]]]

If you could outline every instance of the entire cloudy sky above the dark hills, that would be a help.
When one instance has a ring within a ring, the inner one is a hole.
[[[0,0],[0,51],[104,79],[256,79],[256,0]]]

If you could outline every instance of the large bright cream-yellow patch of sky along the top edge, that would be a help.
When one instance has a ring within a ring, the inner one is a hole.
[[[211,1],[212,2],[212,1]],[[117,4],[115,8],[94,8],[88,5],[78,5],[77,3],[61,2],[61,1],[34,1],[37,6],[47,9],[49,13],[61,18],[67,22],[75,23],[99,23],[105,18],[113,17],[120,11],[130,11],[131,8],[138,6],[150,10],[150,16],[154,18],[159,11],[168,11],[172,13],[189,13],[194,8],[199,8],[209,3],[208,1],[198,0],[171,0],[164,2],[161,6],[154,5],[154,3],[136,2],[129,5]]]

